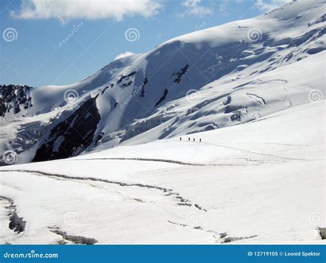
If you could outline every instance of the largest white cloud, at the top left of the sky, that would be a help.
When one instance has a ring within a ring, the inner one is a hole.
[[[12,11],[18,19],[105,19],[121,21],[126,16],[139,14],[150,17],[162,5],[156,0],[23,0],[19,11]]]

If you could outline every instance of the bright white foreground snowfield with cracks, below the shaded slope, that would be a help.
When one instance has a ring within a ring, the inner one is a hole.
[[[318,101],[191,134],[195,143],[1,167],[1,196],[25,221],[6,229],[1,199],[1,243],[323,243],[324,117]]]

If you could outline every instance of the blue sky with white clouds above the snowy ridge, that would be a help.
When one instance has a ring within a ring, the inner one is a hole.
[[[285,1],[1,0],[0,83],[72,84],[125,52],[147,52],[175,36],[255,17]],[[127,30],[136,38],[128,39]]]

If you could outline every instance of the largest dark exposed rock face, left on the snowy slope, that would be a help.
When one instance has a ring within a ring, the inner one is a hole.
[[[89,98],[51,131],[45,143],[36,151],[33,162],[69,158],[85,151],[92,143],[100,114],[96,97]],[[82,145],[82,147],[80,147]],[[80,149],[81,148],[81,149]],[[76,153],[76,149],[79,149]]]

